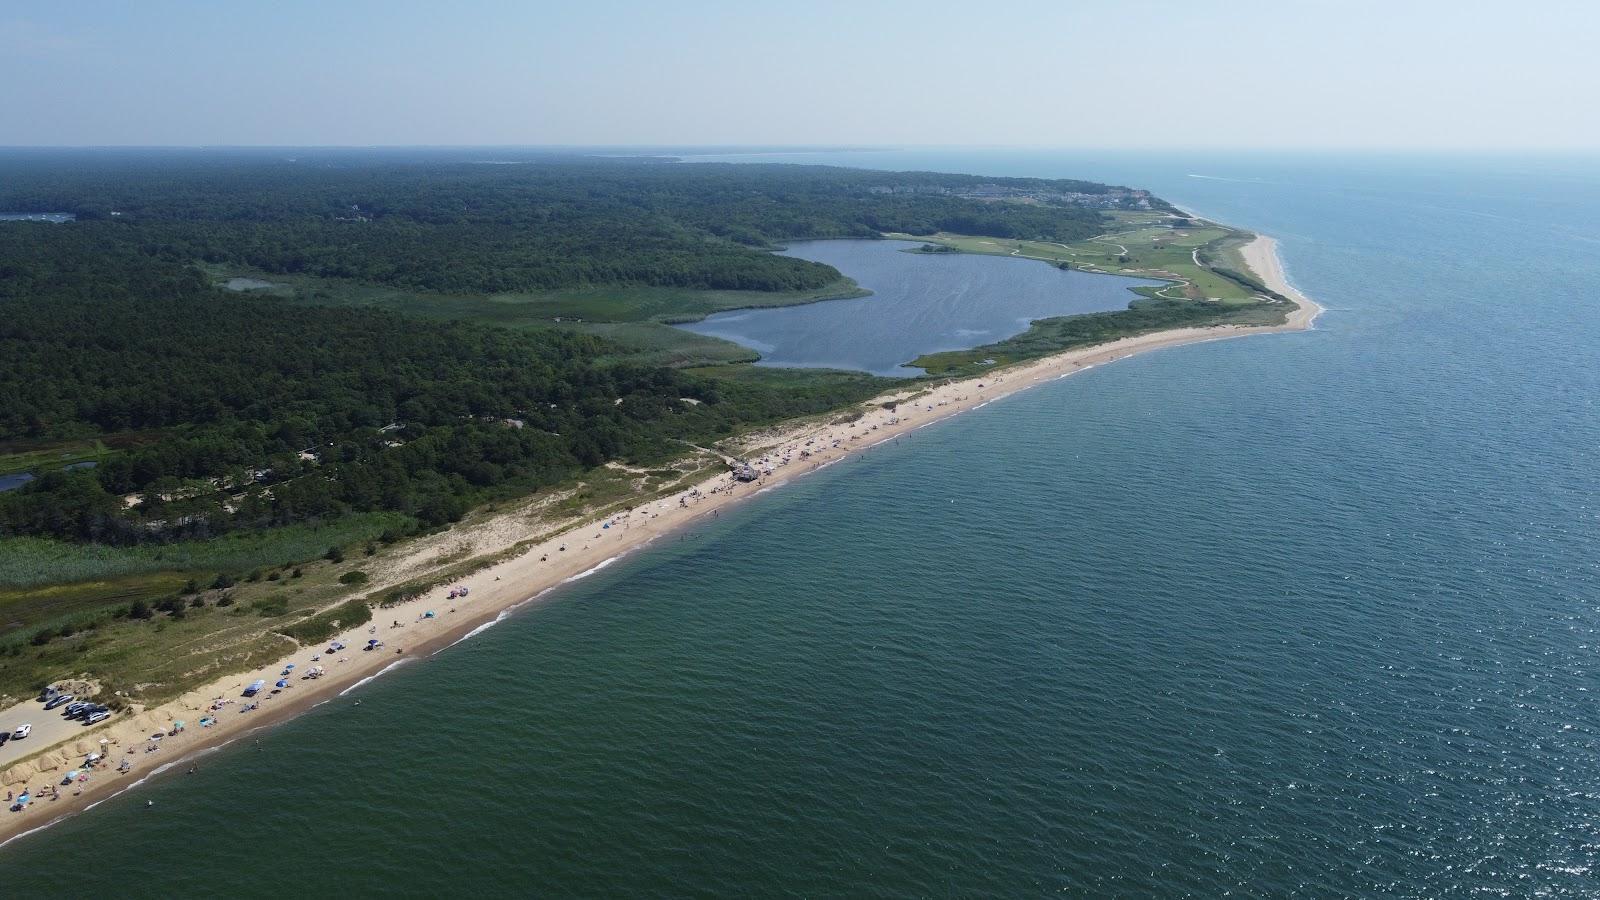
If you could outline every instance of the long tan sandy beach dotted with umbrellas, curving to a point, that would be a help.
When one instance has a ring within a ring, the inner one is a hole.
[[[27,786],[34,790],[34,801],[22,812],[8,812],[11,802],[0,809],[0,847],[21,834],[38,831],[42,826],[98,806],[163,770],[176,769],[173,762],[184,764],[250,732],[344,698],[402,661],[426,658],[482,634],[510,610],[538,602],[563,585],[613,565],[624,554],[664,533],[704,522],[720,508],[765,493],[792,480],[794,476],[826,468],[854,452],[982,407],[997,397],[1106,362],[1202,341],[1310,328],[1322,307],[1288,283],[1277,256],[1277,243],[1270,237],[1256,237],[1242,248],[1242,253],[1245,263],[1267,287],[1298,304],[1282,325],[1216,325],[1122,338],[1018,364],[986,376],[949,381],[928,389],[915,400],[907,399],[910,391],[878,397],[864,405],[866,415],[850,424],[803,423],[768,431],[747,440],[747,445],[760,448],[750,453],[758,456],[752,461],[763,472],[757,482],[739,484],[730,474],[723,474],[669,498],[642,501],[629,512],[568,528],[533,544],[514,559],[466,578],[464,583],[470,586],[467,597],[450,599],[448,588],[435,588],[394,607],[376,607],[370,626],[347,629],[334,637],[347,645],[344,652],[320,653],[331,642],[304,647],[253,673],[219,677],[158,708],[118,716],[98,729],[85,729],[82,738],[11,765],[0,772],[0,790],[16,796]],[[899,405],[894,410],[880,405],[896,400]],[[760,455],[762,452],[765,455]],[[482,549],[490,554],[504,548]],[[384,623],[386,618],[390,621]],[[378,650],[360,650],[373,639],[386,645]],[[314,661],[318,655],[322,658]],[[285,677],[282,673],[290,665],[296,666],[288,676],[291,687],[258,697],[259,708],[245,711],[243,708],[250,705],[242,698],[245,687],[256,679],[274,684]],[[299,673],[306,673],[312,665],[322,666],[326,674],[315,681],[304,679]],[[216,708],[218,701],[224,701],[221,708]],[[344,701],[354,703],[358,697]],[[26,706],[35,717],[58,714],[45,713],[34,701],[27,701]],[[214,717],[216,724],[202,727],[198,724],[202,717]],[[187,727],[170,733],[179,721],[187,722]],[[163,737],[150,740],[155,733]],[[101,745],[101,738],[110,743]],[[91,772],[90,781],[61,785],[66,772],[80,769],[83,757],[102,746],[104,765]],[[131,761],[131,770],[117,773],[115,769],[123,759]],[[53,785],[62,788],[54,799],[40,791]]]

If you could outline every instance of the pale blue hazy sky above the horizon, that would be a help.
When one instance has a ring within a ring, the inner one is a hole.
[[[0,5],[0,144],[1600,147],[1600,2]]]

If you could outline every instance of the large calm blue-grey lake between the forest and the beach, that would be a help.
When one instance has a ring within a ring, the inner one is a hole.
[[[760,351],[760,365],[859,368],[922,375],[906,364],[926,352],[1010,338],[1035,319],[1125,309],[1141,279],[1067,272],[1048,263],[906,253],[904,240],[802,240],[784,256],[827,263],[872,296],[778,309],[718,312],[683,325]]]

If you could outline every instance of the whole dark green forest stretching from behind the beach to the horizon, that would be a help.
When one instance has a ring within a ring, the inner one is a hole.
[[[0,535],[134,544],[402,512],[424,525],[611,460],[870,396],[861,375],[722,378],[605,336],[214,288],[198,263],[432,291],[792,291],[792,237],[1078,240],[1144,202],[1078,181],[523,154],[0,154],[0,450],[104,439],[0,492]],[[1005,200],[997,200],[1003,195]],[[1075,199],[1075,200],[1070,200]],[[1086,199],[1086,200],[1085,200]],[[690,402],[694,400],[694,402]]]

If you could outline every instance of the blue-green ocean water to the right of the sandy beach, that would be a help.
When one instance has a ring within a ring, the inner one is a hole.
[[[1595,895],[1600,162],[792,159],[1150,187],[1330,312],[798,479],[6,890]]]

